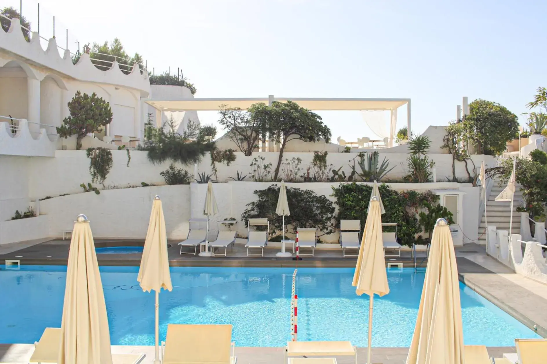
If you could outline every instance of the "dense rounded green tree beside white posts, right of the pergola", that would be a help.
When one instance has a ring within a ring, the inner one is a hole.
[[[462,119],[470,142],[477,154],[501,155],[507,142],[519,133],[517,116],[502,105],[476,99],[469,104],[469,115]]]

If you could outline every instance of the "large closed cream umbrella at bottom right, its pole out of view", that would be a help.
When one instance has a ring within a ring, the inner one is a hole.
[[[406,364],[464,364],[456,254],[445,219],[433,230],[422,298]]]

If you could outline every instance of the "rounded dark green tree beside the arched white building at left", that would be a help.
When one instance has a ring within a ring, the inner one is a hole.
[[[102,97],[97,97],[94,92],[76,92],[76,95],[68,103],[70,116],[63,120],[63,125],[57,128],[57,134],[62,138],[76,135],[76,149],[82,148],[82,139],[89,133],[100,131],[112,121],[112,109],[110,104]]]

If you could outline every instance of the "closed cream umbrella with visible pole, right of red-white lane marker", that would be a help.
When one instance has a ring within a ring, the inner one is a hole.
[[[383,256],[380,201],[375,196],[373,196],[369,204],[369,213],[366,216],[365,229],[359,248],[352,285],[356,287],[355,291],[357,295],[360,296],[366,293],[370,296],[368,360],[366,361],[370,364],[374,295],[382,297],[389,293],[386,261]]]

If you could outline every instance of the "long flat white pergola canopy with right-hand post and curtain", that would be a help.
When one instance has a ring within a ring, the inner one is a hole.
[[[246,110],[255,103],[271,104],[274,101],[287,102],[288,100],[299,104],[301,107],[319,110],[357,110],[357,111],[391,111],[389,128],[389,146],[393,145],[395,137],[395,123],[397,122],[397,109],[406,105],[408,120],[407,128],[410,135],[410,99],[409,98],[298,98],[298,97],[255,97],[255,98],[150,98],[145,100],[156,110],[161,111],[217,111],[223,108],[240,108]]]

